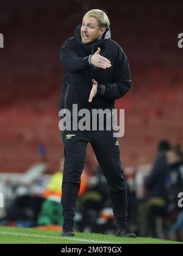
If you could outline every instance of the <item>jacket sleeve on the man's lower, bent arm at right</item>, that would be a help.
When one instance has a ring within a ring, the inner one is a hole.
[[[119,99],[131,89],[131,72],[128,59],[121,49],[118,47],[118,57],[115,64],[115,74],[113,83],[98,85],[97,96],[107,100]]]

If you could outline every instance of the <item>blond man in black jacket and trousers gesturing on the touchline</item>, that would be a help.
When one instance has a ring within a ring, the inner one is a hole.
[[[118,43],[110,39],[109,18],[102,10],[90,10],[77,26],[74,37],[60,50],[63,89],[60,109],[71,111],[114,108],[115,100],[131,88],[129,64]],[[136,237],[127,226],[126,181],[120,162],[120,150],[113,130],[64,130],[65,146],[62,181],[63,236],[73,236],[73,218],[84,168],[85,149],[91,143],[109,184],[117,236]]]

